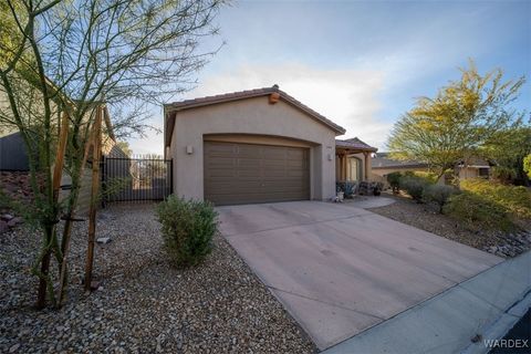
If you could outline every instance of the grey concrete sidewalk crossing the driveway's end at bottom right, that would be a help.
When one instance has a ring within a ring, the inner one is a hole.
[[[487,353],[483,340],[501,339],[518,322],[531,305],[530,291],[527,252],[324,353]]]

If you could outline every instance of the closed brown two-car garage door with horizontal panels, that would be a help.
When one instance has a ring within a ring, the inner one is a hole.
[[[310,149],[205,142],[205,199],[236,205],[310,199]]]

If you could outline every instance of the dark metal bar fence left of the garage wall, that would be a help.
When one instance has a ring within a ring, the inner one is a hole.
[[[104,157],[103,204],[163,200],[173,190],[173,162],[162,158]]]

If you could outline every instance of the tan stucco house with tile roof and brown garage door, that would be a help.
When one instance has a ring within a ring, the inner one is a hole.
[[[336,176],[368,178],[376,150],[336,140],[343,127],[278,85],[166,104],[164,114],[174,194],[216,205],[326,200]]]

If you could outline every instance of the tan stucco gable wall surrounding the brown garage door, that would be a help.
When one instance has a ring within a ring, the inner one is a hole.
[[[267,96],[247,98],[178,112],[175,119],[168,158],[174,159],[177,196],[204,198],[202,148],[208,134],[262,135],[239,137],[241,143],[257,144],[302,140],[296,144],[310,147],[311,198],[323,200],[335,195],[335,133],[289,103],[270,104]],[[191,155],[186,154],[188,145],[194,148]]]

